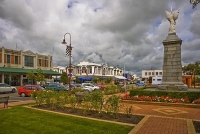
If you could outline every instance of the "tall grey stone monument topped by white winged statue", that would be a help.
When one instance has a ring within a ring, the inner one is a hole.
[[[188,86],[182,82],[181,44],[182,40],[176,35],[175,25],[179,10],[165,11],[170,22],[169,33],[163,41],[164,60],[162,83],[158,85],[161,90],[187,90]]]

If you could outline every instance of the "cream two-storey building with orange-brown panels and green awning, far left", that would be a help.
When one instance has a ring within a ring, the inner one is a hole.
[[[12,50],[0,48],[0,83],[12,86],[27,84],[26,74],[41,69],[50,78],[51,75],[60,75],[51,70],[52,56],[33,53],[32,51]]]

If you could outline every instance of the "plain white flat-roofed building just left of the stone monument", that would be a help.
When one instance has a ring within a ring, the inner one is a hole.
[[[142,70],[142,78],[149,78],[153,76],[162,76],[163,70]]]

